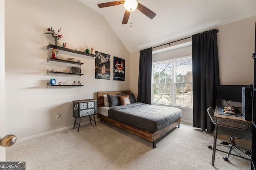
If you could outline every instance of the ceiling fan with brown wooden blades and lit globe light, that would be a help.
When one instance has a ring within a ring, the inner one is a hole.
[[[124,4],[124,7],[126,8],[122,24],[127,24],[130,13],[136,10],[136,8],[151,20],[156,16],[156,13],[148,9],[146,6],[138,3],[137,0],[119,0],[114,2],[106,2],[106,3],[98,4],[98,7],[104,8],[108,6],[115,6],[115,5],[121,5],[121,4]]]

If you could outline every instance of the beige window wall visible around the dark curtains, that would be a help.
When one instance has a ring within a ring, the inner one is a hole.
[[[256,16],[219,27],[213,27],[219,30],[217,39],[220,84],[250,84],[253,82],[254,66],[251,55],[254,53],[255,21]],[[209,28],[208,30],[213,28]],[[200,32],[203,31],[207,30]],[[196,33],[198,32],[194,34]],[[184,41],[180,43],[184,43]],[[175,43],[175,45],[176,44],[177,43]],[[155,46],[158,45],[159,44],[156,44]],[[184,50],[187,49],[184,48]],[[183,55],[176,53],[176,51],[174,51],[174,53],[177,57]],[[130,75],[132,75],[130,77],[130,90],[134,92],[134,94],[138,93],[139,58],[139,51],[130,54]],[[182,109],[182,113],[182,119],[192,121],[192,110]]]

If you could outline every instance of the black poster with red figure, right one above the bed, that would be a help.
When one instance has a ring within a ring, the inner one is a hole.
[[[114,57],[113,80],[124,81],[124,59]]]

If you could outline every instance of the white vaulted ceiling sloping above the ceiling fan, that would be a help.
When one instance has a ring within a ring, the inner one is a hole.
[[[78,1],[102,14],[130,53],[256,16],[256,0],[138,0],[155,18],[136,9],[122,25],[124,4],[99,8],[115,0]]]

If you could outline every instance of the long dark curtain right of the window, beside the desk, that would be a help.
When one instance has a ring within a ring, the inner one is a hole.
[[[192,36],[193,62],[193,127],[212,133],[214,124],[207,108],[220,105],[216,100],[216,87],[220,84],[217,29]]]

